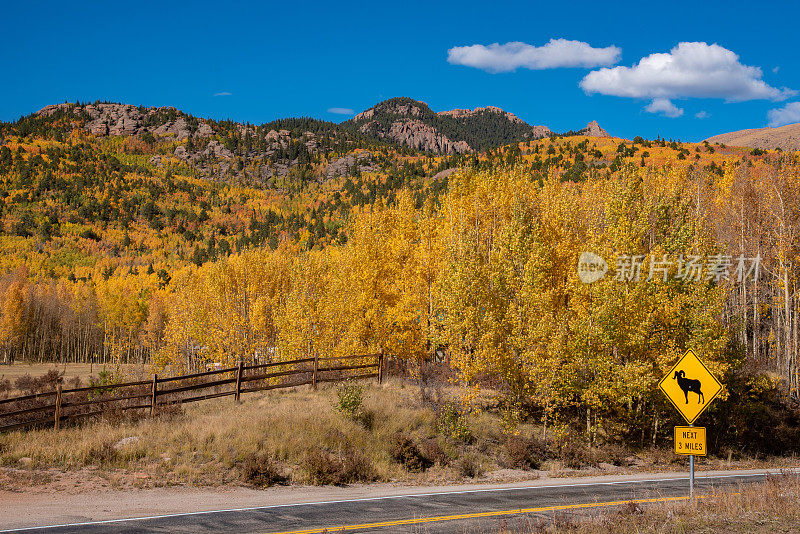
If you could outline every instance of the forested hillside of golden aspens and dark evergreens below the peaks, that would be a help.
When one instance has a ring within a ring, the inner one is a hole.
[[[687,348],[730,380],[771,373],[739,392],[797,398],[796,153],[553,135],[448,156],[133,109],[0,128],[3,360],[178,372],[383,348],[491,379],[510,421],[624,419],[642,439]],[[611,274],[581,283],[584,251]],[[730,276],[676,277],[694,255]],[[615,280],[621,256],[671,258],[669,276]],[[760,271],[738,277],[740,257]]]

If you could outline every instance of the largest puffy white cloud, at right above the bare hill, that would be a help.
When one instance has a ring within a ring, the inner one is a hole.
[[[721,98],[728,102],[784,100],[796,91],[767,85],[761,69],[717,44],[679,43],[668,53],[651,54],[632,67],[603,68],[580,82],[587,93],[629,98]],[[663,104],[661,104],[663,106]],[[648,106],[649,107],[649,106]]]

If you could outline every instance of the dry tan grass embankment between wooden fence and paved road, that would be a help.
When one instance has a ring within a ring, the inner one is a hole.
[[[523,424],[504,432],[490,409],[465,410],[400,378],[384,385],[274,390],[165,410],[0,435],[0,489],[85,486],[501,482],[685,469],[664,449],[588,447],[580,435]],[[484,406],[489,406],[488,397]],[[478,399],[477,405],[481,405]],[[699,461],[699,469],[793,465],[792,458]],[[94,482],[92,482],[94,484]],[[95,484],[96,485],[96,484]]]

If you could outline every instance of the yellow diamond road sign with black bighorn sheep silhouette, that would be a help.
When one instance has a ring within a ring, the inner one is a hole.
[[[658,387],[689,424],[694,423],[722,391],[719,380],[691,350],[669,370]]]

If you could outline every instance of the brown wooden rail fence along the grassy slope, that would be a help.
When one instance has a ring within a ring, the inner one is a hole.
[[[0,432],[52,426],[82,418],[140,410],[155,415],[159,409],[185,402],[243,393],[289,388],[320,382],[377,378],[383,382],[383,353],[338,358],[303,358],[286,362],[214,369],[202,373],[122,384],[92,385],[0,399]]]

